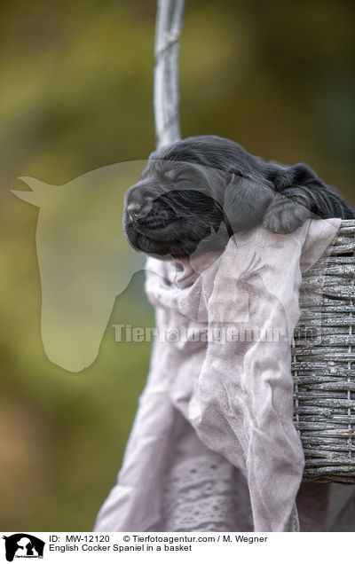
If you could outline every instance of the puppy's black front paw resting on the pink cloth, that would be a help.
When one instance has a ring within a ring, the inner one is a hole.
[[[263,227],[273,233],[292,233],[307,219],[312,212],[283,196],[278,196],[266,209]]]

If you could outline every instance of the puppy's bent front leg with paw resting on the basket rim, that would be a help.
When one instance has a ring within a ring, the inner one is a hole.
[[[270,163],[266,176],[276,192],[263,225],[269,231],[290,233],[311,217],[331,217],[335,194],[304,163],[282,167]],[[330,198],[330,200],[329,200]]]

